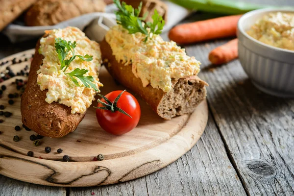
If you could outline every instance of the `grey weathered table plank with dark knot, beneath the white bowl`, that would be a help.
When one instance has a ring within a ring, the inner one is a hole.
[[[240,62],[209,65],[209,51],[226,41],[186,47],[202,62],[208,101],[248,195],[294,195],[294,101],[261,93]]]

